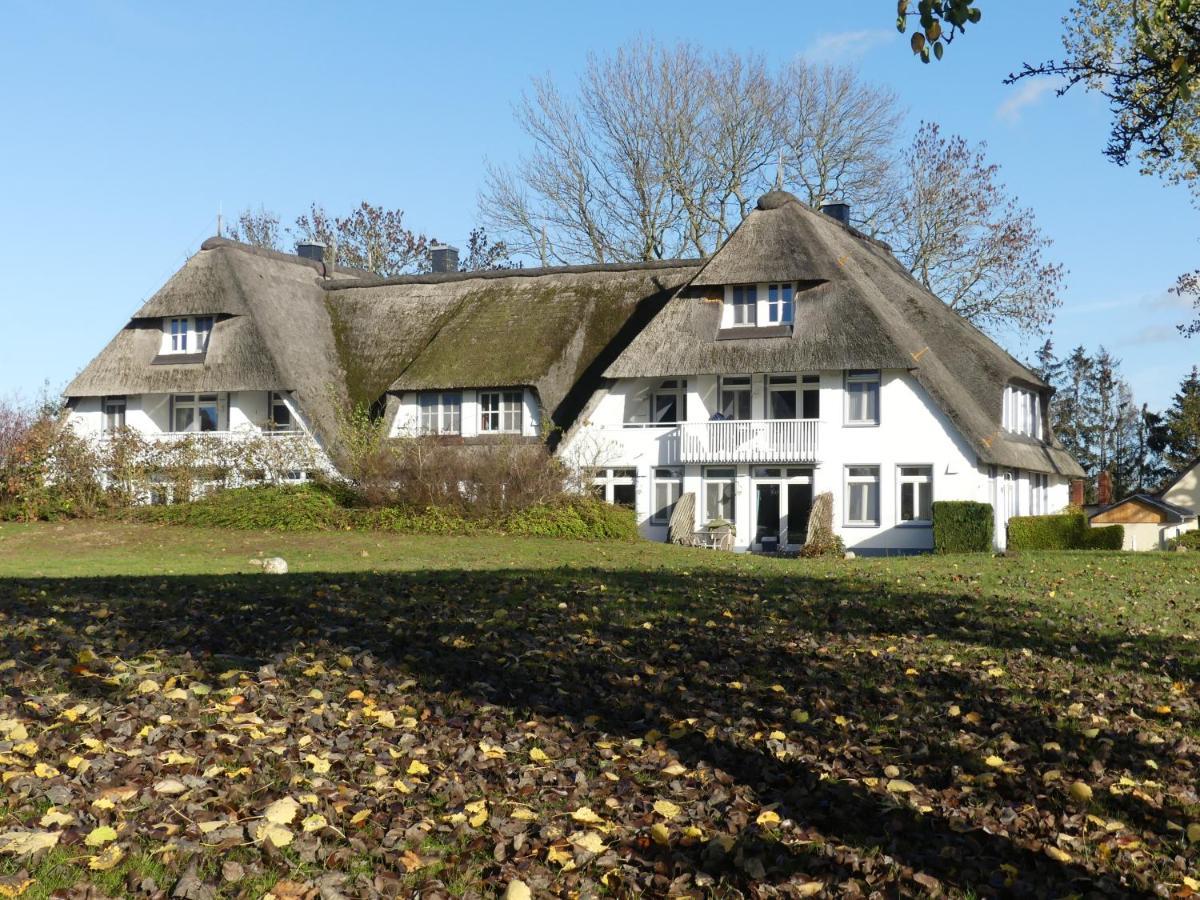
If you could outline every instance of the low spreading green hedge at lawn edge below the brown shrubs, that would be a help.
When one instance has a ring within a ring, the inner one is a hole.
[[[362,508],[328,485],[239,487],[168,506],[140,506],[139,521],[198,528],[272,532],[384,530],[400,534],[512,534],[518,536],[636,540],[634,514],[590,497],[571,497],[516,510],[499,518],[468,517],[430,506]]]

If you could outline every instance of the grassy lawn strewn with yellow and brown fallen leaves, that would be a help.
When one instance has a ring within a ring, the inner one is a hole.
[[[1195,553],[0,526],[0,896],[1186,896],[1198,607]]]

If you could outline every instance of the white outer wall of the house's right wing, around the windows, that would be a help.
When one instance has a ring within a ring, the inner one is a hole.
[[[703,511],[703,466],[680,466],[679,430],[648,426],[649,398],[662,379],[620,379],[601,394],[581,422],[566,437],[560,452],[570,464],[584,468],[636,468],[637,520],[643,536],[666,539],[666,527],[652,524],[653,475],[655,467],[683,469],[683,491],[697,499],[697,522]],[[752,382],[751,418],[766,418],[764,382]],[[697,376],[688,379],[689,422],[708,421],[718,406],[719,379]],[[902,523],[899,511],[899,469],[929,466],[932,469],[932,499],[992,503],[991,470],[980,466],[976,454],[924,389],[905,371],[884,371],[880,389],[880,424],[847,425],[841,371],[820,373],[818,463],[812,467],[814,494],[832,492],[834,527],[846,546],[858,551],[914,551],[932,547],[932,530],[925,524]],[[710,463],[722,466],[721,463]],[[776,463],[770,463],[776,466]],[[846,467],[874,466],[880,469],[880,522],[856,526],[846,522]],[[754,538],[755,510],[752,464],[736,467],[736,548],[746,550]],[[787,468],[804,468],[788,464]],[[1025,498],[1019,508],[1030,508],[1028,473],[1016,473],[1016,491]],[[1067,504],[1066,479],[1051,478],[1048,511]],[[1003,524],[998,523],[1002,539]]]

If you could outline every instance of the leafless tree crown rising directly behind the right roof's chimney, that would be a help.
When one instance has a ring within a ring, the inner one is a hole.
[[[780,78],[776,122],[788,184],[814,209],[851,204],[854,223],[875,234],[899,197],[895,143],[904,110],[890,88],[850,68],[790,65]]]

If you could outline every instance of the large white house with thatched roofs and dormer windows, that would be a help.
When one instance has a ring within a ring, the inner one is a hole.
[[[289,428],[336,461],[338,410],[371,403],[396,437],[545,440],[647,538],[692,494],[742,550],[798,546],[826,491],[858,551],[931,547],[941,499],[994,504],[1002,544],[1081,474],[1034,373],[781,191],[707,260],[457,272],[443,248],[378,278],[299,250],[205,241],[68,386],[72,424]]]

